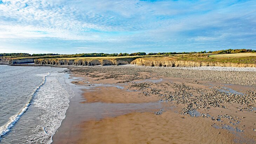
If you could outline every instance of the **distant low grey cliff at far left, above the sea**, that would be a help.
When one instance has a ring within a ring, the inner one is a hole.
[[[0,57],[0,64],[32,63],[34,59],[15,59],[11,57]]]

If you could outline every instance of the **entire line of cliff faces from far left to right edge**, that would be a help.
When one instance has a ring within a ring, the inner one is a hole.
[[[0,63],[3,64],[16,64],[32,62],[37,65],[75,65],[75,66],[107,66],[107,65],[124,65],[132,64],[138,66],[150,66],[150,67],[256,67],[255,63],[227,63],[227,62],[204,62],[204,61],[183,61],[183,60],[161,60],[154,58],[99,58],[99,59],[0,59]]]

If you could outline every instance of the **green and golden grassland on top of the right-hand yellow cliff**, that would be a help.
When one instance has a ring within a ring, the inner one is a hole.
[[[222,54],[223,55],[223,54]],[[145,57],[143,59],[147,60],[161,60],[161,61],[198,61],[198,62],[221,62],[221,63],[243,63],[243,64],[256,64],[256,54],[254,53],[243,53],[238,54],[237,56],[229,57],[229,56],[218,56],[212,55],[210,57],[207,54],[189,54],[182,56],[168,56],[168,57]],[[224,54],[229,55],[229,54]],[[231,54],[233,55],[233,54]],[[247,56],[244,56],[247,55]],[[248,56],[253,55],[253,56]]]

